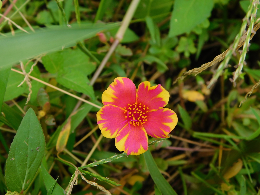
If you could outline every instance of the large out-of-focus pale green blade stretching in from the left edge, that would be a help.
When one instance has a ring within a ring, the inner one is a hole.
[[[117,24],[93,25],[81,24],[69,27],[41,28],[35,33],[16,33],[15,36],[1,36],[0,42],[5,47],[0,47],[1,59],[0,67],[12,66],[18,61],[34,57],[50,51],[61,50],[64,47],[71,47],[77,41],[91,38],[101,30],[108,30],[116,27]]]

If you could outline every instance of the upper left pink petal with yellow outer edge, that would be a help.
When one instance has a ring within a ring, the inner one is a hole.
[[[104,105],[112,104],[121,108],[135,102],[136,87],[130,79],[117,77],[102,94]]]

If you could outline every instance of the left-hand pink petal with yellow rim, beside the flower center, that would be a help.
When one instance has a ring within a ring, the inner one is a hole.
[[[125,126],[125,109],[114,105],[105,105],[97,112],[97,124],[106,138],[115,138]]]

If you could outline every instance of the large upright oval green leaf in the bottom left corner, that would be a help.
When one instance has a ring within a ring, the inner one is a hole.
[[[10,191],[23,192],[34,178],[45,153],[41,125],[32,108],[25,114],[6,160],[5,182]]]

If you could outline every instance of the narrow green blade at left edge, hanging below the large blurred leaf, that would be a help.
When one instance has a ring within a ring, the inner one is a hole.
[[[1,0],[0,0],[0,8],[1,8]],[[4,101],[4,94],[5,94],[5,90],[6,90],[6,85],[8,82],[8,77],[10,74],[11,69],[10,68],[0,68],[0,113],[2,110],[2,105],[3,105],[3,101]]]

